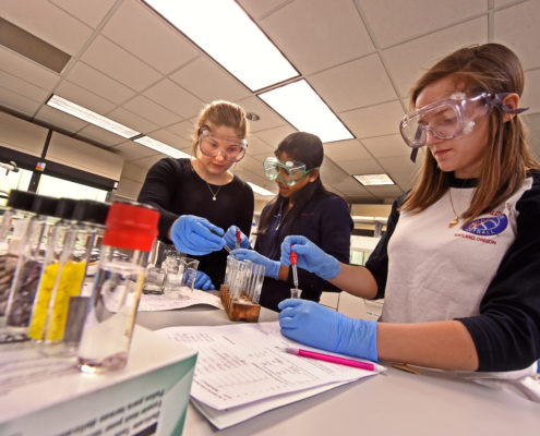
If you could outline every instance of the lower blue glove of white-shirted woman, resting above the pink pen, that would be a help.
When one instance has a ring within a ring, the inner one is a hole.
[[[376,322],[353,319],[309,300],[287,299],[277,305],[281,334],[334,353],[377,361]]]

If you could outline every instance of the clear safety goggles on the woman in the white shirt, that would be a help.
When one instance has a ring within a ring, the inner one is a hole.
[[[411,160],[416,160],[418,148],[428,142],[428,132],[440,140],[452,140],[475,128],[475,119],[499,106],[507,113],[520,113],[527,108],[509,109],[502,100],[508,93],[482,93],[467,98],[464,93],[453,94],[446,100],[424,106],[406,116],[399,123],[405,143],[412,148]]]

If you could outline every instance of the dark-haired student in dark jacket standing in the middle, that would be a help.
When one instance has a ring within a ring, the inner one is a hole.
[[[235,254],[266,267],[260,300],[265,307],[277,310],[293,288],[290,268],[279,264],[280,245],[288,234],[303,234],[340,262],[349,262],[352,219],[346,203],[323,186],[319,172],[323,158],[319,136],[296,132],[264,162],[265,174],[276,181],[279,194],[261,213],[255,251],[238,249]],[[319,301],[323,291],[338,291],[301,268],[298,279],[302,299]]]

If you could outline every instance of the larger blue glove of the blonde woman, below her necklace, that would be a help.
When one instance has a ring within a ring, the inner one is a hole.
[[[213,233],[211,229],[215,232]],[[206,218],[182,215],[170,228],[170,239],[180,253],[208,254],[223,249],[224,230]]]

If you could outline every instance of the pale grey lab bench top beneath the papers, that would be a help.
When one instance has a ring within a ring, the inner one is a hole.
[[[261,322],[276,319],[277,313],[261,311]],[[157,329],[230,322],[224,311],[195,306],[141,312],[137,323]],[[213,427],[190,404],[183,435],[525,436],[537,435],[539,428],[539,403],[444,373],[415,375],[388,367],[385,374],[272,410],[223,431]]]

